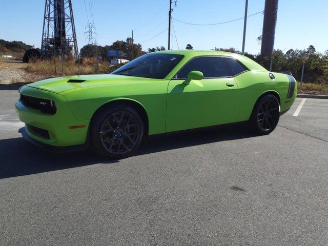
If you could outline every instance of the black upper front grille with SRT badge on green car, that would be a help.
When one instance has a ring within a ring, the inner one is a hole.
[[[56,105],[55,102],[48,99],[36,98],[33,96],[27,96],[20,94],[20,101],[26,107],[32,109],[38,109],[45,114],[55,114]]]

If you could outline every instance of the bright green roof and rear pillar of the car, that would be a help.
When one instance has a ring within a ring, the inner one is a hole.
[[[177,54],[184,55],[186,59],[190,59],[195,56],[205,56],[205,55],[214,55],[214,56],[229,56],[239,60],[242,64],[244,64],[250,70],[257,71],[267,71],[261,65],[256,63],[251,58],[240,55],[237,53],[231,53],[226,51],[219,50],[163,50],[163,51],[155,51],[148,54]]]

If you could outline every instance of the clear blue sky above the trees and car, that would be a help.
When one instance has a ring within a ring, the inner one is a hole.
[[[134,42],[140,43],[142,50],[168,46],[169,0],[71,2],[79,49],[87,44],[84,32],[87,23],[92,22],[92,16],[98,45],[126,40],[133,30]],[[248,15],[264,10],[264,2],[249,0]],[[40,47],[44,8],[45,0],[0,0],[0,39],[18,40]],[[178,20],[195,24],[227,22],[242,18],[244,8],[245,0],[178,0],[176,7],[173,4],[171,49],[185,49],[187,44],[191,44],[198,50],[215,47],[241,50],[243,19],[212,26],[187,25]],[[313,45],[319,52],[328,50],[327,9],[328,0],[280,0],[274,48],[287,51]],[[260,52],[261,46],[256,38],[262,34],[262,26],[262,13],[248,17],[245,52]]]

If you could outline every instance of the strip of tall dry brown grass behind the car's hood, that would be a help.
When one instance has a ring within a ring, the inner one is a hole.
[[[98,64],[98,73],[108,73],[115,69],[106,61],[101,61]],[[27,72],[36,74],[61,75],[61,59],[60,57],[51,60],[37,60],[29,63],[26,68]],[[95,74],[97,73],[97,63],[92,59],[84,59],[80,64],[81,74]],[[78,74],[78,63],[74,59],[66,59],[64,61],[64,74],[76,75]]]

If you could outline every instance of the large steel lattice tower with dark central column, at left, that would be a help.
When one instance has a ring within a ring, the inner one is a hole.
[[[41,55],[78,54],[71,0],[46,0]]]

